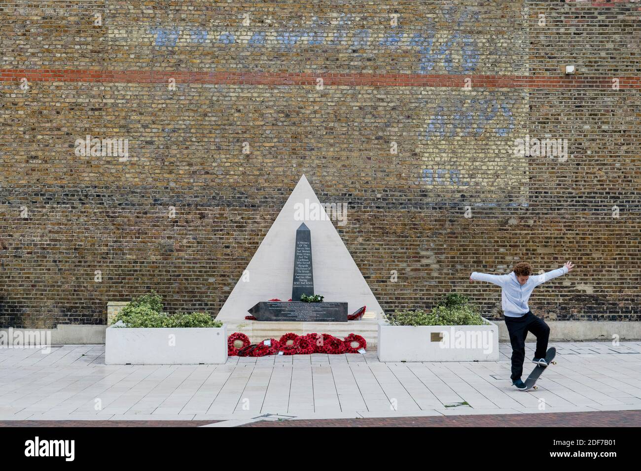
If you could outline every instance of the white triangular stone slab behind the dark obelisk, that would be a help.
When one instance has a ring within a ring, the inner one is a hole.
[[[312,236],[314,294],[323,295],[324,301],[328,302],[347,302],[350,314],[367,306],[367,317],[372,313],[376,318],[382,317],[383,310],[374,293],[303,175],[222,306],[217,319],[243,320],[249,315],[247,310],[256,302],[274,298],[282,301],[290,299],[296,229],[303,222]]]

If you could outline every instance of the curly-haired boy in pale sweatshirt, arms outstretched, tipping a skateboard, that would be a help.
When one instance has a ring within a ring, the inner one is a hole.
[[[521,381],[523,374],[523,361],[525,359],[525,338],[528,331],[537,337],[537,350],[535,351],[532,363],[547,367],[545,352],[547,351],[547,339],[550,335],[550,328],[544,320],[535,316],[528,307],[529,295],[532,290],[541,283],[549,281],[557,276],[565,275],[572,271],[574,264],[571,261],[565,262],[560,269],[542,275],[532,275],[532,267],[527,262],[520,262],[514,265],[512,272],[506,275],[489,275],[487,273],[473,272],[470,275],[472,281],[489,281],[494,285],[501,286],[501,306],[505,315],[505,325],[510,333],[512,343],[512,384],[519,390],[525,390],[526,386]]]

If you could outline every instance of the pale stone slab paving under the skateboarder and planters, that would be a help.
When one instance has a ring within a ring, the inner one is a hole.
[[[641,409],[641,342],[551,343],[540,389],[498,362],[380,363],[376,352],[229,358],[226,365],[104,365],[104,345],[0,348],[0,420],[427,417]],[[534,345],[528,343],[528,358]],[[526,374],[533,367],[526,364]],[[221,422],[224,424],[225,422]]]

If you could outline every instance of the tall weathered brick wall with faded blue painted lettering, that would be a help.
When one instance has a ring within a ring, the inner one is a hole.
[[[0,327],[104,324],[150,289],[217,312],[303,173],[348,204],[385,310],[457,290],[497,316],[472,270],[573,260],[533,310],[640,320],[640,20],[638,1],[0,0]],[[567,155],[515,153],[526,136]]]

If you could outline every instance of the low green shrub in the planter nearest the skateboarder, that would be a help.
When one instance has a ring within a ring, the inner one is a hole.
[[[437,306],[431,311],[422,309],[397,310],[387,315],[392,326],[481,326],[483,318],[471,306],[447,308]]]

